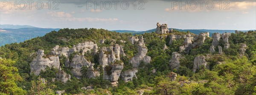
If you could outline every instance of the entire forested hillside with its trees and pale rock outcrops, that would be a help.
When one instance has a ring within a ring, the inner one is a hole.
[[[0,57],[0,95],[256,95],[256,31],[64,28]]]

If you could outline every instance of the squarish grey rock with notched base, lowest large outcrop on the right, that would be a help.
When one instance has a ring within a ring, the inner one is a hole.
[[[194,59],[194,67],[193,72],[195,72],[197,69],[199,69],[201,66],[209,68],[207,61],[205,60],[205,56],[196,56]]]

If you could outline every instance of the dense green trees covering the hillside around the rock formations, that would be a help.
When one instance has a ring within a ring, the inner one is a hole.
[[[39,76],[30,74],[30,63],[39,49],[44,50],[48,56],[55,45],[71,48],[78,43],[92,41],[99,48],[122,45],[127,55],[121,56],[124,63],[122,71],[131,70],[133,67],[128,61],[138,53],[137,45],[131,44],[128,40],[132,34],[95,28],[64,28],[25,42],[4,45],[0,48],[0,95],[54,95],[58,90],[65,90],[64,94],[67,95],[140,95],[141,92],[143,95],[256,95],[256,31],[232,33],[229,37],[230,48],[223,49],[223,54],[218,54],[217,51],[210,53],[212,38],[207,37],[203,45],[194,47],[190,53],[183,55],[179,69],[171,69],[169,60],[172,53],[179,51],[184,39],[175,40],[169,45],[169,35],[188,33],[173,31],[171,34],[163,35],[154,32],[141,34],[151,62],[140,64],[136,73],[137,78],[134,77],[129,82],[119,79],[119,84],[115,87],[112,87],[110,81],[102,79],[102,68],[99,69],[101,74],[97,78],[86,78],[85,74],[81,79],[75,78],[70,68],[64,66],[64,60],[67,59],[64,56],[60,56],[59,59],[61,69],[71,75],[71,80],[67,83],[51,80],[58,72],[58,69],[52,67],[41,71]],[[99,43],[101,39],[105,39],[103,44]],[[239,55],[241,43],[247,45],[244,56]],[[165,45],[167,49],[163,49]],[[224,47],[222,39],[219,46]],[[209,68],[200,67],[194,73],[193,61],[199,55],[211,56],[211,59],[207,59]],[[88,52],[84,56],[95,64],[95,68],[100,67],[99,54],[93,55]],[[217,62],[221,64],[216,64]],[[81,73],[86,71],[87,67],[83,67]],[[177,73],[175,81],[172,81],[173,73]],[[47,81],[42,81],[42,78]],[[87,86],[93,89],[82,89]]]

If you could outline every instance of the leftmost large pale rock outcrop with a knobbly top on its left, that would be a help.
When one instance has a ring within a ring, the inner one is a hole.
[[[58,56],[50,56],[49,58],[44,58],[44,50],[38,50],[37,57],[33,59],[30,64],[31,72],[30,74],[34,73],[35,75],[39,75],[41,70],[44,70],[47,66],[59,68],[60,61]]]

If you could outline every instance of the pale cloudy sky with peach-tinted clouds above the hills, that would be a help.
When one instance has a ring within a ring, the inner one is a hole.
[[[40,28],[146,31],[159,22],[178,29],[256,30],[256,0],[1,0],[0,7],[0,24]]]

